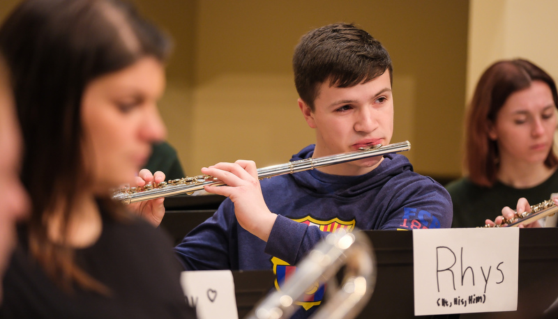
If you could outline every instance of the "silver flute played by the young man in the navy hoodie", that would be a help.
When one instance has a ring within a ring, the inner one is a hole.
[[[310,157],[304,160],[292,161],[285,164],[262,167],[261,169],[257,169],[257,177],[261,180],[263,178],[292,174],[299,171],[308,171],[310,169],[317,169],[318,167],[352,162],[363,158],[397,153],[410,149],[411,143],[409,143],[409,141],[393,143],[386,146],[377,144],[375,146],[359,148],[359,150],[354,150],[352,152],[316,158]],[[200,175],[179,178],[176,180],[167,180],[165,182],[159,182],[154,185],[149,184],[143,187],[125,187],[114,192],[112,198],[116,201],[130,204],[139,201],[158,199],[160,197],[193,194],[195,191],[204,189],[205,185],[225,185],[225,183],[213,178],[213,176]]]

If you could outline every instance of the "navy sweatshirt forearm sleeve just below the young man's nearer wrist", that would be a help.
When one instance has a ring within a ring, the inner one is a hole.
[[[267,240],[266,254],[295,265],[328,233],[278,215]]]

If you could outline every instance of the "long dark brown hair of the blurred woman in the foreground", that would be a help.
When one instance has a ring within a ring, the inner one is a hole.
[[[32,203],[29,249],[61,286],[77,281],[103,290],[76,267],[73,249],[52,242],[46,227],[54,208],[65,208],[66,238],[77,189],[88,182],[81,147],[84,89],[144,56],[163,62],[169,49],[163,33],[119,0],[26,0],[1,26],[0,50],[12,73],[24,138],[22,182]],[[108,199],[101,202],[110,205]],[[114,207],[109,211],[119,215]]]

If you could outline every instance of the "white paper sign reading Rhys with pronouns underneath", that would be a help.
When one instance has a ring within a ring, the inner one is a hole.
[[[518,308],[519,228],[413,231],[415,316]]]

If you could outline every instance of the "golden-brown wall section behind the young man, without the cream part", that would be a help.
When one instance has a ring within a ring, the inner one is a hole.
[[[189,110],[174,111],[188,117],[165,117],[169,140],[189,175],[239,158],[258,166],[287,162],[314,141],[296,105],[291,57],[303,33],[338,21],[360,24],[391,53],[392,141],[412,142],[406,155],[416,171],[460,173],[455,141],[465,105],[468,1],[196,3],[193,38],[173,33],[177,41],[192,44],[193,85],[171,81],[167,93],[181,100],[161,105],[164,116],[167,108]]]

